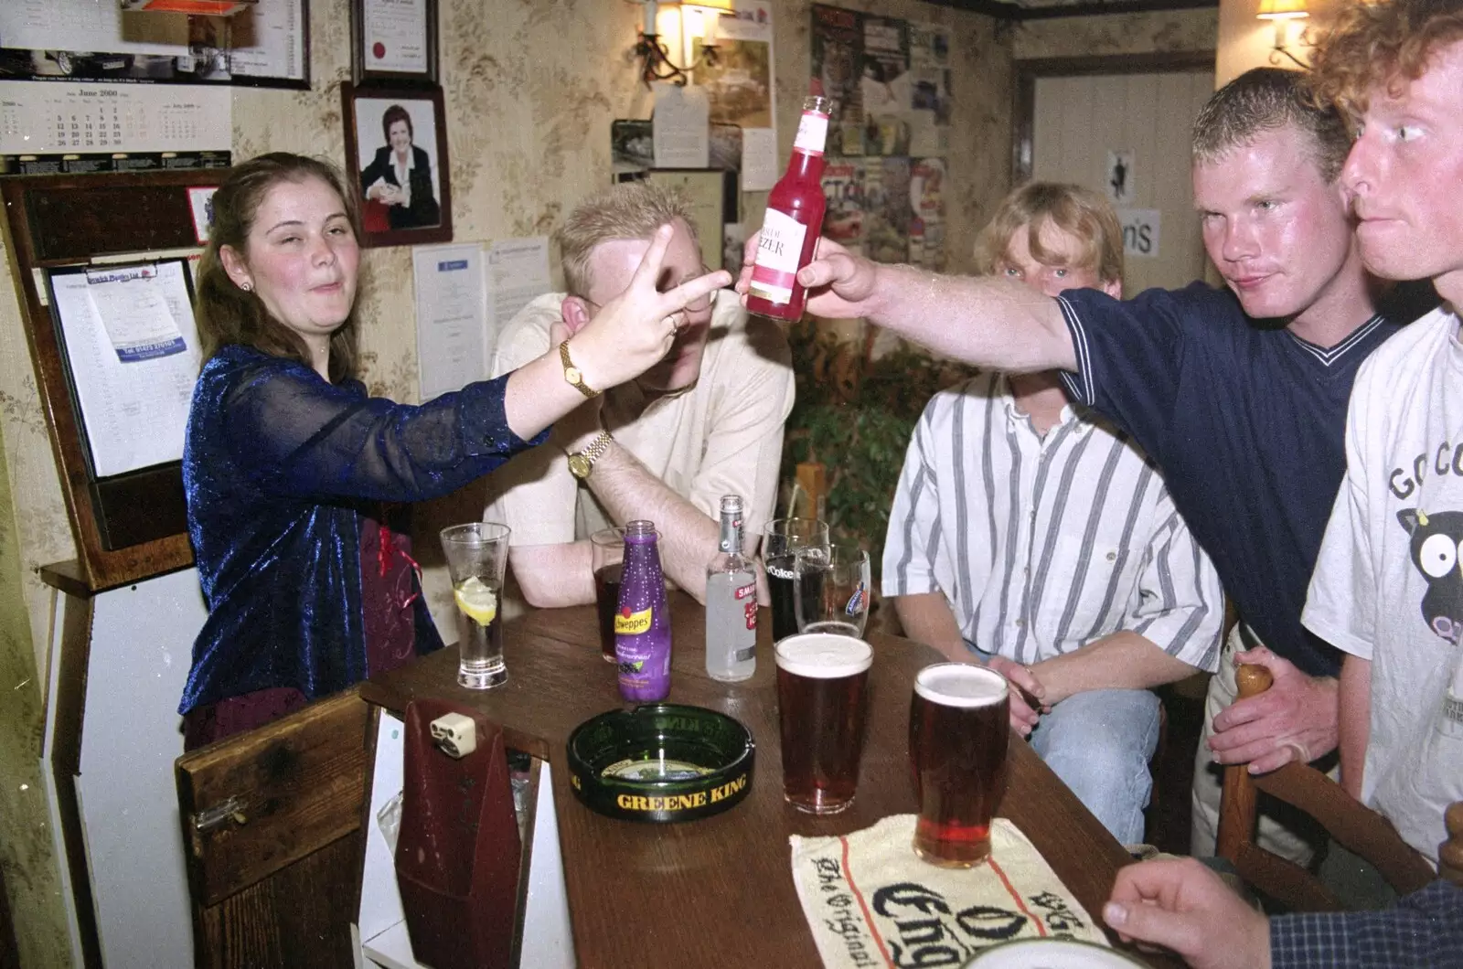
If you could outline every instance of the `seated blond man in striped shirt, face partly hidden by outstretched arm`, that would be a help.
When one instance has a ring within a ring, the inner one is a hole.
[[[976,262],[1048,296],[1116,297],[1122,234],[1096,193],[1034,183],[1002,202]],[[1217,667],[1223,599],[1127,435],[1069,404],[1053,370],[935,395],[894,498],[884,594],[911,638],[1020,686],[1011,726],[1119,842],[1143,840],[1150,688]]]

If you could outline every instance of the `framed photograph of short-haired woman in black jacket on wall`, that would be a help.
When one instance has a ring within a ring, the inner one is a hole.
[[[347,177],[367,246],[452,242],[440,88],[341,85]]]

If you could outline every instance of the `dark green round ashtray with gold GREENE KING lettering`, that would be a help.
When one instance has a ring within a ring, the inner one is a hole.
[[[756,744],[739,720],[658,703],[610,710],[569,735],[569,783],[591,811],[626,821],[695,821],[752,787]]]

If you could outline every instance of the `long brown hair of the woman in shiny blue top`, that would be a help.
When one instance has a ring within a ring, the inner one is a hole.
[[[361,237],[360,206],[348,193],[335,165],[319,158],[307,158],[284,151],[269,152],[237,164],[211,201],[208,246],[198,266],[198,296],[193,316],[198,323],[203,360],[221,348],[241,344],[275,357],[310,363],[304,341],[265,309],[257,293],[244,291],[228,278],[218,252],[228,246],[240,256],[249,256],[249,231],[269,190],[281,182],[319,179],[331,186],[345,205],[356,240]],[[356,307],[345,322],[331,334],[331,382],[339,384],[356,376]]]

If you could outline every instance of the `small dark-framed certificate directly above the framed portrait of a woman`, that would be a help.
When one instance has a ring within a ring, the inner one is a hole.
[[[437,0],[351,0],[351,81],[437,83]]]

